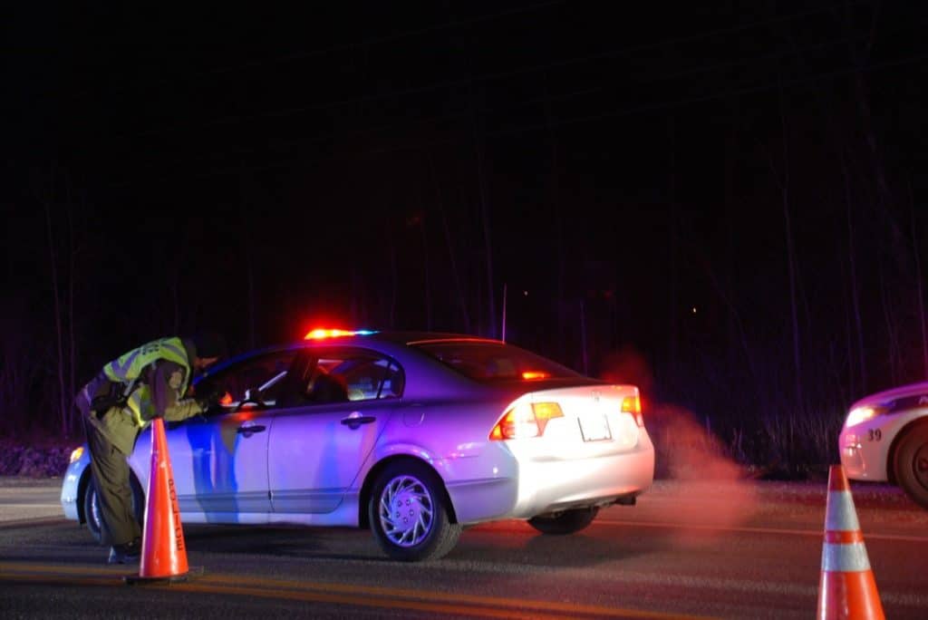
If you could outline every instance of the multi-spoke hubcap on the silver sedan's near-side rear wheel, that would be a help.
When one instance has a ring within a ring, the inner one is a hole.
[[[417,478],[397,476],[383,487],[379,514],[380,527],[394,545],[413,547],[432,531],[432,495]]]

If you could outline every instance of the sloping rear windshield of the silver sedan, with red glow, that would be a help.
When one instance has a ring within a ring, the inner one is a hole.
[[[532,381],[582,376],[547,357],[502,342],[418,342],[412,346],[475,381]]]

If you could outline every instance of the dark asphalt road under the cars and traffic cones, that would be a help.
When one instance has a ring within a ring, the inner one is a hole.
[[[471,527],[438,562],[389,562],[367,532],[185,525],[186,584],[127,586],[75,523],[60,481],[0,480],[0,616],[808,618],[825,484],[658,481],[584,532]],[[854,484],[890,618],[928,617],[928,511]]]

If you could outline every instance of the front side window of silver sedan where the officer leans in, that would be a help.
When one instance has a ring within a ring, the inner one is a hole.
[[[243,360],[200,381],[197,391],[225,390],[224,407],[236,407],[249,393],[252,398],[260,398],[265,405],[273,407],[296,354],[296,351],[278,351]]]

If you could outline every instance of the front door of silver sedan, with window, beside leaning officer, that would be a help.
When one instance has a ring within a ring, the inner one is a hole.
[[[295,355],[292,350],[255,355],[198,383],[201,393],[219,388],[226,396],[202,418],[168,425],[182,511],[201,511],[216,523],[266,521],[268,440],[277,394]]]

